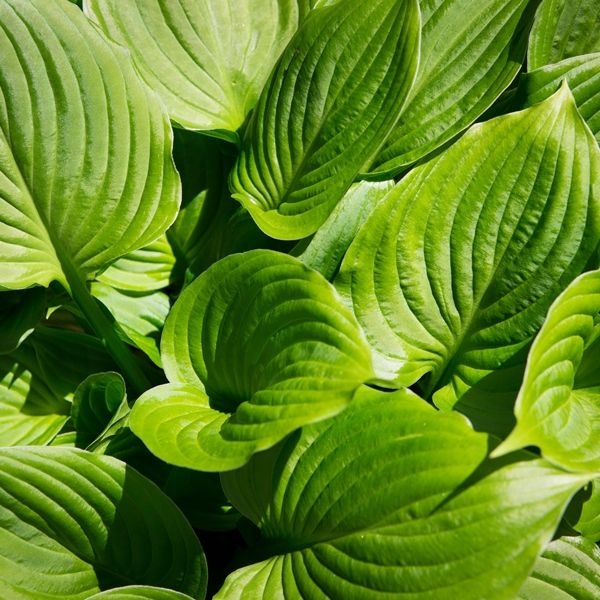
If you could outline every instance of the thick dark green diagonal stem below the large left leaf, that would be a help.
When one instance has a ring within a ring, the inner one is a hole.
[[[63,273],[70,289],[71,297],[79,306],[81,312],[88,320],[96,335],[114,358],[129,382],[132,391],[140,395],[152,385],[136,362],[135,357],[117,333],[118,325],[111,321],[109,315],[102,309],[98,301],[92,296],[87,281],[78,269],[71,263],[62,262]]]

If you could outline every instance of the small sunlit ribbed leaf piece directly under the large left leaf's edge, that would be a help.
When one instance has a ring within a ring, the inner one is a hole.
[[[165,235],[113,263],[98,281],[119,290],[152,292],[167,287],[175,256]]]

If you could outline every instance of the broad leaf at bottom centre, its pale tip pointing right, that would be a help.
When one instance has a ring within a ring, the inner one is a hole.
[[[513,598],[586,478],[541,460],[477,471],[486,453],[457,413],[364,391],[222,475],[271,558],[216,598]]]

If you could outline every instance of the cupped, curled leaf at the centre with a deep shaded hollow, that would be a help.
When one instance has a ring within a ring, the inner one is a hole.
[[[344,410],[373,375],[333,286],[268,250],[229,256],[190,284],[161,350],[172,383],[137,400],[131,428],[163,460],[206,471],[241,466]]]

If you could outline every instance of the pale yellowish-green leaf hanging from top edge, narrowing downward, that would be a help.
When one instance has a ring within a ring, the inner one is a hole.
[[[84,11],[131,50],[173,121],[230,140],[298,23],[296,0],[85,0]]]

